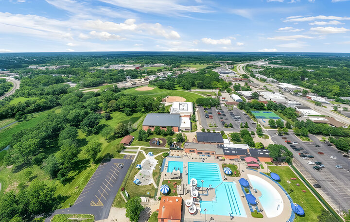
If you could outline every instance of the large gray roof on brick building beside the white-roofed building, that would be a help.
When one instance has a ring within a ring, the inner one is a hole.
[[[149,113],[143,120],[142,126],[175,126],[180,127],[180,114]]]

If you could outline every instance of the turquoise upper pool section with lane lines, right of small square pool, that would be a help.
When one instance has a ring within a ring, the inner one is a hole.
[[[209,185],[214,188],[222,182],[219,165],[216,163],[188,162],[188,181],[192,178],[198,181],[198,187],[202,187],[203,180],[205,188],[209,188]]]

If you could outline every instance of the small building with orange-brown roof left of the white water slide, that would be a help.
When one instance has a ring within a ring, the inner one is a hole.
[[[158,209],[158,222],[181,222],[182,198],[163,196]]]

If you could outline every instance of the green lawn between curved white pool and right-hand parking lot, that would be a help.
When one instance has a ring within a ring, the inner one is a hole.
[[[318,202],[313,193],[302,183],[297,175],[289,167],[268,167],[272,172],[280,175],[280,185],[289,193],[293,202],[304,208],[305,217],[297,217],[295,222],[318,221],[317,216],[321,214],[323,206]],[[297,178],[291,180],[290,178]],[[290,189],[287,180],[291,181]],[[296,184],[299,184],[298,187]],[[302,192],[306,190],[306,192]]]

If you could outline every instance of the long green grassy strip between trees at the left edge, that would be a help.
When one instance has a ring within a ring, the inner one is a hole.
[[[30,127],[35,126],[36,124],[40,123],[42,120],[45,120],[47,115],[50,112],[53,112],[54,109],[47,110],[40,113],[35,113],[34,118],[31,120],[23,121],[23,122],[17,122],[5,129],[2,129],[0,131],[0,150],[5,148],[11,141],[12,134],[17,133],[18,131],[22,129],[27,129]]]

